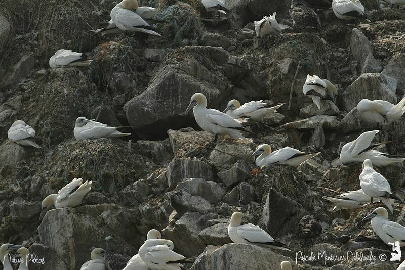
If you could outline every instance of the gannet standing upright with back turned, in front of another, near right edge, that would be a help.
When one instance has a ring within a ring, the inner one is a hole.
[[[373,198],[379,198],[392,213],[393,209],[389,198],[399,199],[392,194],[387,179],[373,169],[373,163],[370,159],[363,162],[362,172],[360,173],[360,187],[364,193],[371,197],[370,203],[373,203]]]

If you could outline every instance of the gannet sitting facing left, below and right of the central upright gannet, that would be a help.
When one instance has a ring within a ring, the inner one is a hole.
[[[256,166],[258,167],[278,164],[297,167],[305,160],[318,154],[320,152],[304,153],[288,146],[271,152],[271,147],[268,144],[262,144],[256,148],[252,156],[258,156],[256,158]]]

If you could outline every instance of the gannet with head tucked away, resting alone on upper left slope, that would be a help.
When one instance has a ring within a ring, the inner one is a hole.
[[[60,49],[49,59],[51,68],[60,67],[87,67],[94,61],[86,59],[82,53],[76,53],[72,50]]]

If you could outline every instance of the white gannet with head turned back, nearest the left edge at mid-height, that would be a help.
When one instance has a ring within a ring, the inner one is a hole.
[[[7,137],[13,143],[21,146],[33,146],[41,149],[41,146],[32,140],[35,137],[35,130],[22,120],[17,120],[11,125],[7,131]]]

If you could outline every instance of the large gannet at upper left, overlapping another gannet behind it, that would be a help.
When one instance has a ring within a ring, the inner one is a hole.
[[[123,0],[111,10],[111,20],[120,30],[126,32],[142,32],[160,36],[141,16],[131,11],[137,9],[137,0]]]

